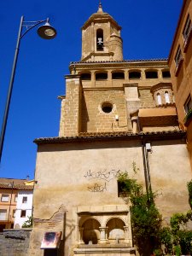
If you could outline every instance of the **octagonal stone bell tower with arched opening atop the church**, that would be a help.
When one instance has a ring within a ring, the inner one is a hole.
[[[122,61],[121,26],[104,13],[102,3],[82,27],[81,61]]]

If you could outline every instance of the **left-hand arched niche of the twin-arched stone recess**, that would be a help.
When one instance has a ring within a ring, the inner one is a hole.
[[[88,218],[82,225],[83,228],[83,241],[85,244],[97,244],[100,239],[99,227],[101,224],[96,218]]]

